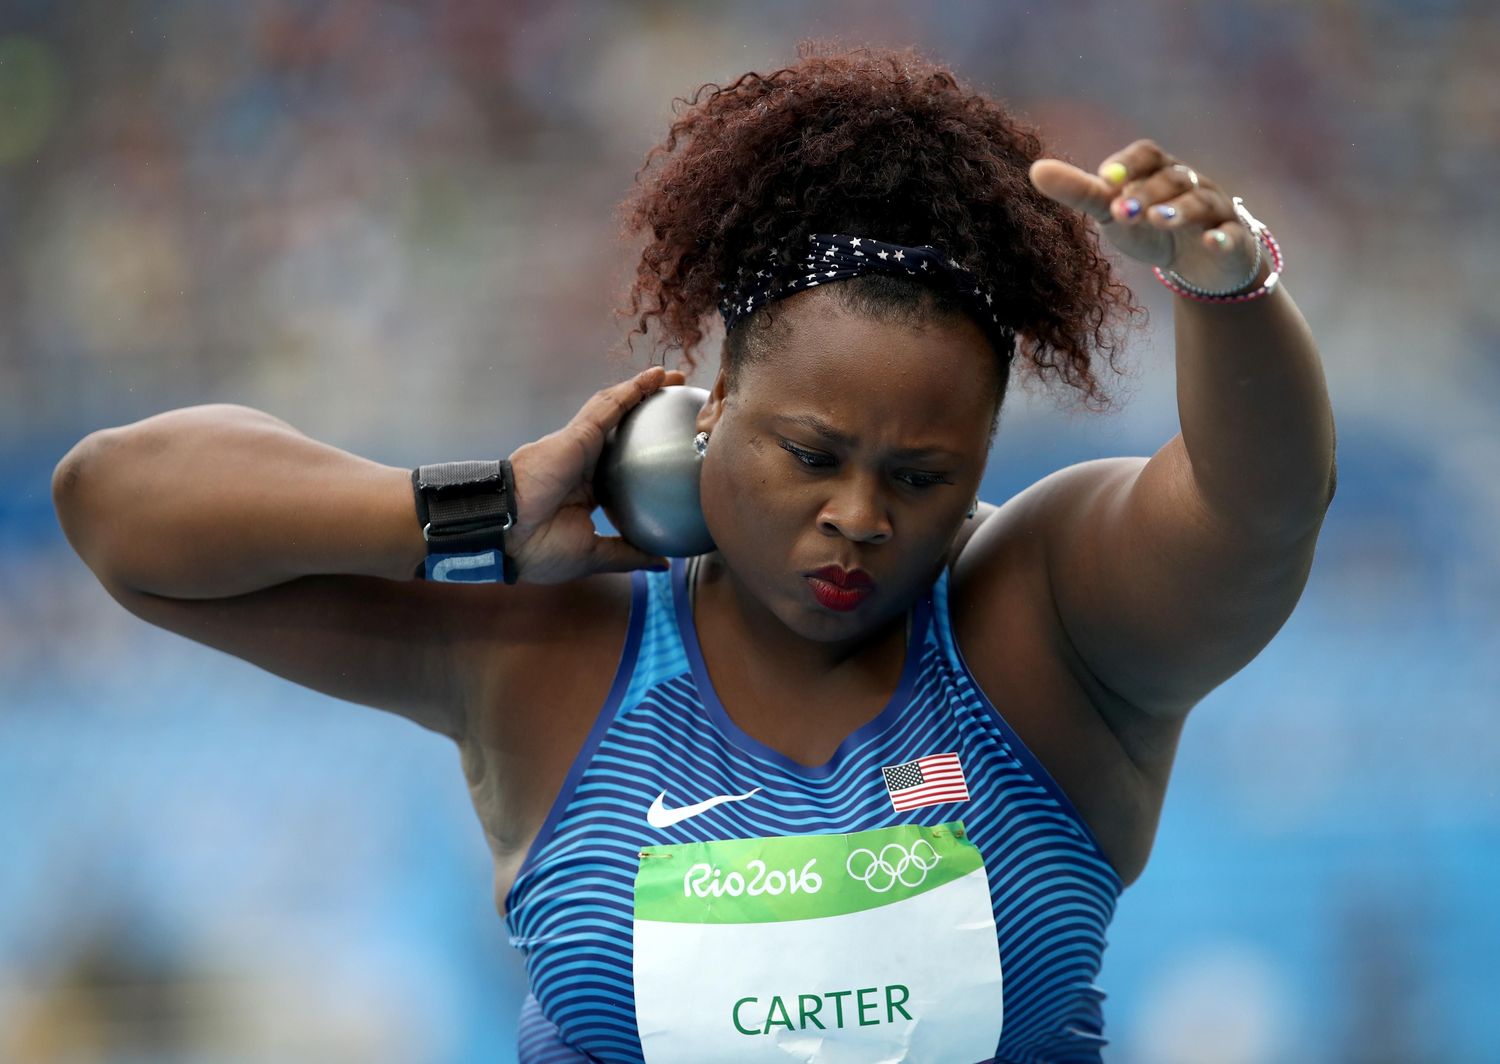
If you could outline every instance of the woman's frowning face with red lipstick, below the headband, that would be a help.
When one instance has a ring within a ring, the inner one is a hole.
[[[776,306],[771,351],[720,374],[698,428],[704,516],[732,575],[794,632],[840,641],[940,570],[984,473],[994,351],[969,321]]]

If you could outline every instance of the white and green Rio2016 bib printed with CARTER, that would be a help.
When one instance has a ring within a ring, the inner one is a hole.
[[[962,821],[640,851],[646,1064],[976,1064],[1000,1040],[990,881]]]

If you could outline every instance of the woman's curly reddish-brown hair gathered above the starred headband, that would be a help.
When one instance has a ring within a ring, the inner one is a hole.
[[[789,264],[810,234],[849,233],[958,260],[1042,380],[1102,402],[1095,356],[1116,366],[1137,306],[1088,219],[1030,183],[1042,141],[1000,104],[912,51],[804,44],[792,66],[678,107],[622,209],[630,234],[650,234],[622,309],[632,336],[654,332],[696,365],[738,267]],[[735,348],[730,335],[726,359]]]

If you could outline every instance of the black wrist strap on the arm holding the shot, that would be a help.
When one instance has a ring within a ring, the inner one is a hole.
[[[429,558],[494,551],[504,581],[516,582],[516,563],[506,554],[506,530],[516,524],[508,461],[418,465],[411,471],[411,491]],[[426,576],[428,570],[424,563],[420,572]]]

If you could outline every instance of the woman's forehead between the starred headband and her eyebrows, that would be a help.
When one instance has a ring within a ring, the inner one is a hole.
[[[772,308],[772,326],[736,374],[735,398],[846,429],[936,434],[952,447],[974,434],[987,443],[998,375],[994,348],[966,317],[855,312],[813,290]]]

